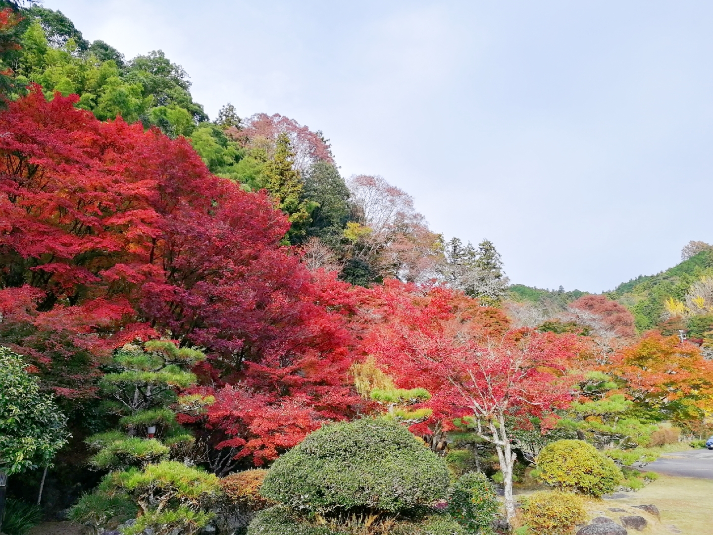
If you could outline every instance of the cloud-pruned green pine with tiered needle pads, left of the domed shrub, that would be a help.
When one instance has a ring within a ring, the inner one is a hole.
[[[143,348],[127,344],[116,352],[101,391],[108,398],[109,411],[122,416],[122,429],[86,440],[98,450],[89,461],[91,466],[111,472],[92,494],[78,500],[70,519],[98,532],[133,505],[139,519],[125,534],[145,529],[192,534],[210,521],[211,514],[204,509],[218,492],[217,477],[193,467],[195,459],[185,455],[195,439],[176,422],[172,408],[186,401],[179,399],[176,389],[196,383],[188,367],[204,358],[201,351],[179,349],[168,340],[146,342]],[[194,405],[210,402],[200,396],[190,398]]]

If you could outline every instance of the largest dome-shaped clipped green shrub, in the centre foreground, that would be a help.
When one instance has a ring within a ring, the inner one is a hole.
[[[447,490],[446,463],[408,429],[364,418],[309,434],[272,464],[260,494],[302,512],[398,513]]]

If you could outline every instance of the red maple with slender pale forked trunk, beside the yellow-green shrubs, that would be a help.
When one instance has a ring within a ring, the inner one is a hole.
[[[431,392],[420,406],[434,412],[412,431],[447,430],[454,417],[473,418],[478,434],[496,447],[512,519],[515,454],[506,419],[546,417],[566,407],[578,378],[567,371],[583,342],[575,335],[508,330],[499,310],[478,307],[477,300],[453,290],[412,291],[409,299],[409,292],[395,287],[384,287],[381,322],[366,339],[366,352],[398,387]]]

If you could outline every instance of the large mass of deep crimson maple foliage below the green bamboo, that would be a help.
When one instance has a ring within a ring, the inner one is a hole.
[[[35,87],[0,115],[0,303],[5,332],[20,326],[10,342],[47,378],[58,333],[90,367],[134,337],[168,334],[205,347],[202,371],[222,382],[277,399],[311,381],[314,399],[349,398],[334,371],[349,367],[349,332],[280,245],[289,224],[272,201],[208,173],[185,140],[101,123],[75,102]],[[322,371],[324,384],[309,379]]]

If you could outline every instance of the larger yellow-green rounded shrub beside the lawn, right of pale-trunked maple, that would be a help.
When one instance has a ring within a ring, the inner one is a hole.
[[[545,446],[537,458],[539,477],[564,491],[597,498],[615,491],[624,477],[616,464],[583,440],[558,440]]]

